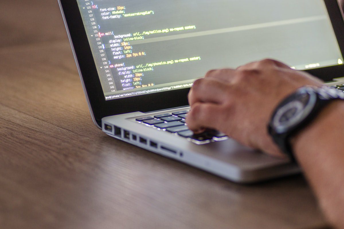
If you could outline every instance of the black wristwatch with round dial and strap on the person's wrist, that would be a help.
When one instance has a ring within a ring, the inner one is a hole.
[[[339,99],[344,100],[343,91],[326,86],[302,87],[277,106],[268,125],[269,134],[282,152],[296,162],[290,137],[309,125],[326,105]]]

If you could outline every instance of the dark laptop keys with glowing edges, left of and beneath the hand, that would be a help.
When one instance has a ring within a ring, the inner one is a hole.
[[[187,124],[185,118],[189,113],[188,110],[173,113],[155,115],[154,117],[137,118],[136,121],[146,126],[150,126],[160,131],[166,131],[174,135],[186,138],[196,144],[207,144],[213,141],[223,141],[228,136],[216,130],[207,130],[202,134],[194,134]]]

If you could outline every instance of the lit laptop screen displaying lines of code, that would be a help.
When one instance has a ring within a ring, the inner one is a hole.
[[[191,87],[210,69],[263,58],[343,64],[322,0],[77,2],[106,100]]]

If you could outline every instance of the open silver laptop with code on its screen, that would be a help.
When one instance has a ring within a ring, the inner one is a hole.
[[[216,130],[194,135],[185,117],[196,79],[274,58],[344,89],[344,23],[336,0],[59,4],[94,124],[110,137],[230,181],[258,182],[300,168]]]

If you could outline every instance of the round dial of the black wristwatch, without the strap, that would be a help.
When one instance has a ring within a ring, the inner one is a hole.
[[[287,98],[273,117],[272,125],[279,134],[298,125],[309,115],[316,102],[316,94],[312,90],[299,90]]]

